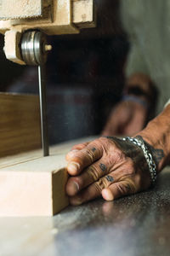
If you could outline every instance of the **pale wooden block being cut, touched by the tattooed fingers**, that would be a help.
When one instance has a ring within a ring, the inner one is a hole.
[[[0,216],[53,216],[68,206],[65,155],[51,155],[0,169]]]

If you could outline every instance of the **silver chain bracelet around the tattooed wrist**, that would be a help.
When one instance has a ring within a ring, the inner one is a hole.
[[[136,137],[123,137],[123,141],[129,141],[142,149],[144,153],[144,158],[148,164],[149,170],[150,170],[150,177],[151,177],[151,182],[152,184],[156,183],[156,163],[153,160],[152,155],[150,154],[149,149],[146,147],[145,143],[143,140],[140,140],[139,138]]]

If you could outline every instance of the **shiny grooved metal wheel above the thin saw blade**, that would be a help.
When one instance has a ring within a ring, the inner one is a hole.
[[[48,50],[46,35],[40,31],[27,31],[21,38],[21,55],[27,65],[39,66],[47,61]]]

